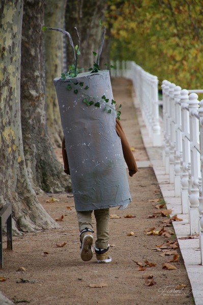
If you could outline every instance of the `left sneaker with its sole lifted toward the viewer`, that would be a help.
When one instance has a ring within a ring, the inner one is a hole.
[[[93,257],[93,231],[85,228],[80,232],[81,252],[80,257],[84,262],[88,262]]]

